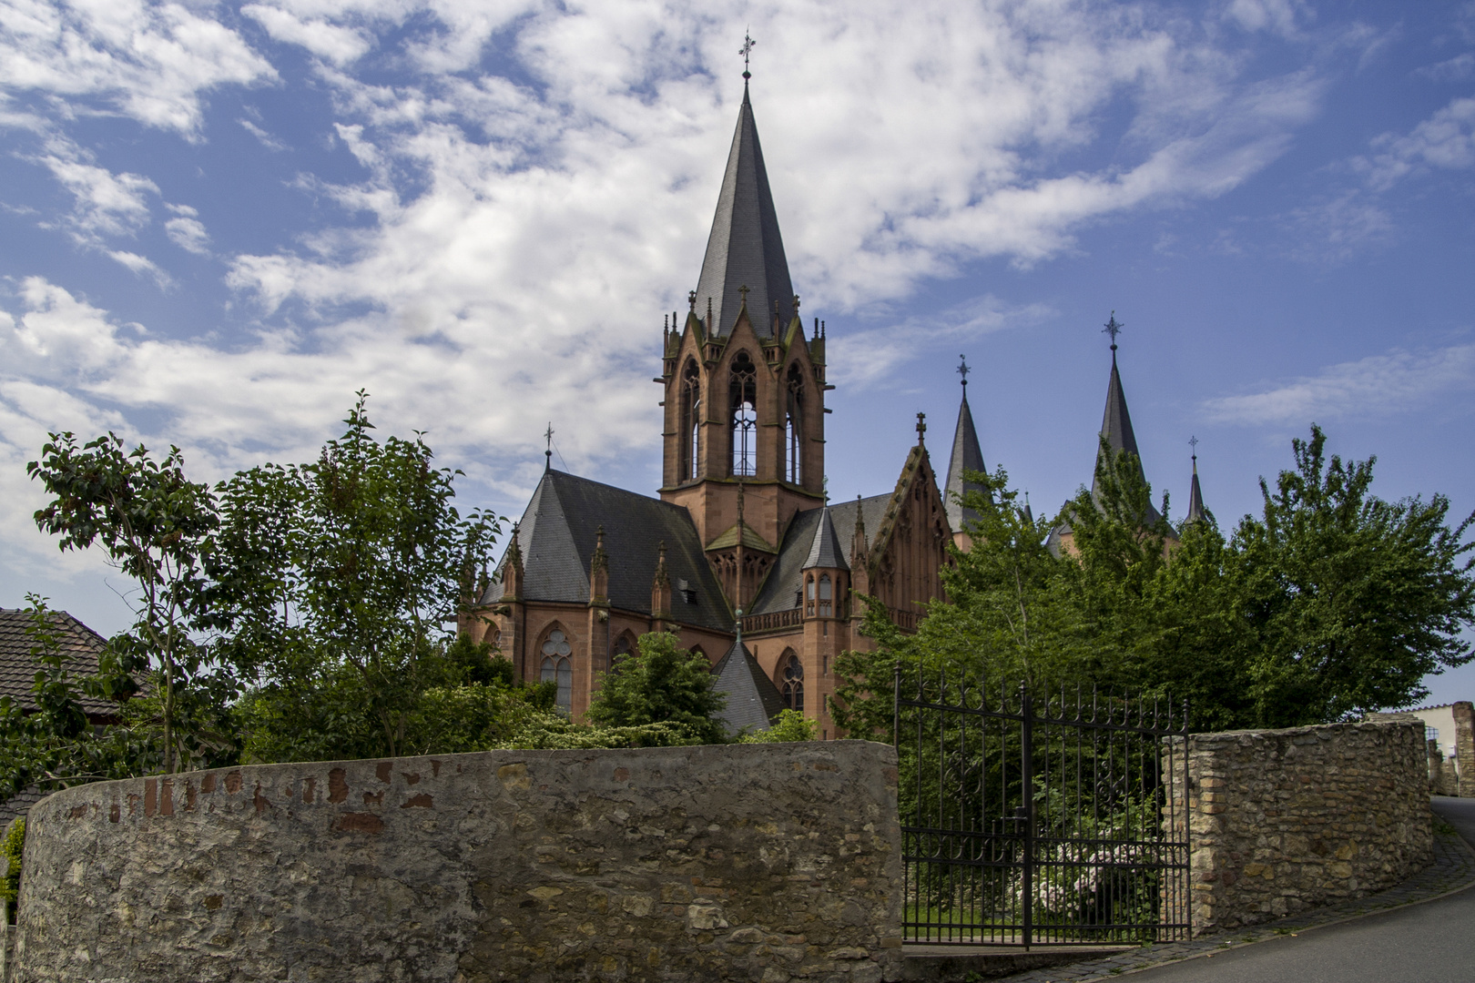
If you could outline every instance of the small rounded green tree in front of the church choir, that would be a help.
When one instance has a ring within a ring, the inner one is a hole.
[[[727,704],[727,697],[712,688],[717,676],[707,659],[681,648],[670,632],[642,635],[639,648],[639,653],[615,657],[586,718],[611,727],[677,724],[689,730],[690,743],[726,743],[726,731],[715,715]]]

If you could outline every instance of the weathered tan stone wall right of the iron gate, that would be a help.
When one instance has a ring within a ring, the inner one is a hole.
[[[1187,784],[1186,812],[1181,771],[1170,794],[1192,830],[1195,934],[1361,898],[1434,859],[1422,722],[1195,734]]]

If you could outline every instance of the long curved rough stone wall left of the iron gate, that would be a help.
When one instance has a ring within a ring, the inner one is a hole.
[[[15,980],[878,983],[895,752],[488,752],[100,783],[37,803]]]

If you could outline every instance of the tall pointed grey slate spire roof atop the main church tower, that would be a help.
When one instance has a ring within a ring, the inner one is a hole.
[[[779,302],[783,324],[794,315],[794,283],[789,261],[783,255],[779,215],[768,190],[768,171],[763,165],[758,127],[743,85],[738,130],[727,153],[723,190],[717,197],[717,215],[707,239],[702,277],[696,283],[696,315],[707,317],[711,298],[717,327],[714,336],[726,336],[738,323],[742,308],[739,287],[748,287],[748,320],[758,337],[773,336],[773,302]]]

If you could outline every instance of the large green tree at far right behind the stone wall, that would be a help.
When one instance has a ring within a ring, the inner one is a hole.
[[[1254,640],[1254,713],[1266,727],[1336,721],[1409,706],[1431,672],[1471,660],[1475,514],[1447,525],[1450,503],[1372,495],[1376,458],[1326,460],[1326,435],[1292,442],[1295,469],[1264,511],[1235,531],[1235,579]]]

